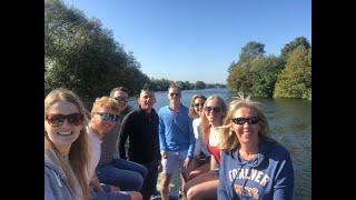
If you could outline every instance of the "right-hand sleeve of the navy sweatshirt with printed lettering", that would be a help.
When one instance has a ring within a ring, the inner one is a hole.
[[[279,164],[277,171],[276,184],[274,186],[274,200],[293,199],[294,169],[289,152],[286,150],[286,157]]]

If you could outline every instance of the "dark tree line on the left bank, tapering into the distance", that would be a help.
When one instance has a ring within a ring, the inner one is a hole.
[[[170,82],[184,90],[224,87],[204,81],[150,79],[140,68],[134,53],[125,51],[99,19],[88,19],[60,0],[44,0],[44,96],[62,87],[90,104],[118,86],[127,87],[130,94],[137,94],[144,86],[167,90]]]

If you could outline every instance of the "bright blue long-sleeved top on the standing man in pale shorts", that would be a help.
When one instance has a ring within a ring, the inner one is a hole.
[[[192,120],[188,116],[188,108],[180,104],[172,111],[169,106],[158,111],[159,146],[165,151],[186,151],[192,157],[196,139],[192,131]]]

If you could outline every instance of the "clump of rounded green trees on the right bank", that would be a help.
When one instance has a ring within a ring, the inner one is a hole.
[[[254,97],[312,99],[312,47],[305,37],[285,44],[280,56],[265,56],[265,44],[250,41],[228,68],[227,87]]]

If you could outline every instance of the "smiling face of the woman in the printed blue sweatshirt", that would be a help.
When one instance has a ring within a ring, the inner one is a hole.
[[[233,118],[254,118],[257,117],[257,113],[247,107],[241,107],[235,111]],[[259,123],[249,124],[245,122],[244,124],[236,124],[235,122],[230,122],[231,128],[234,129],[239,142],[241,144],[258,144],[258,131]]]

